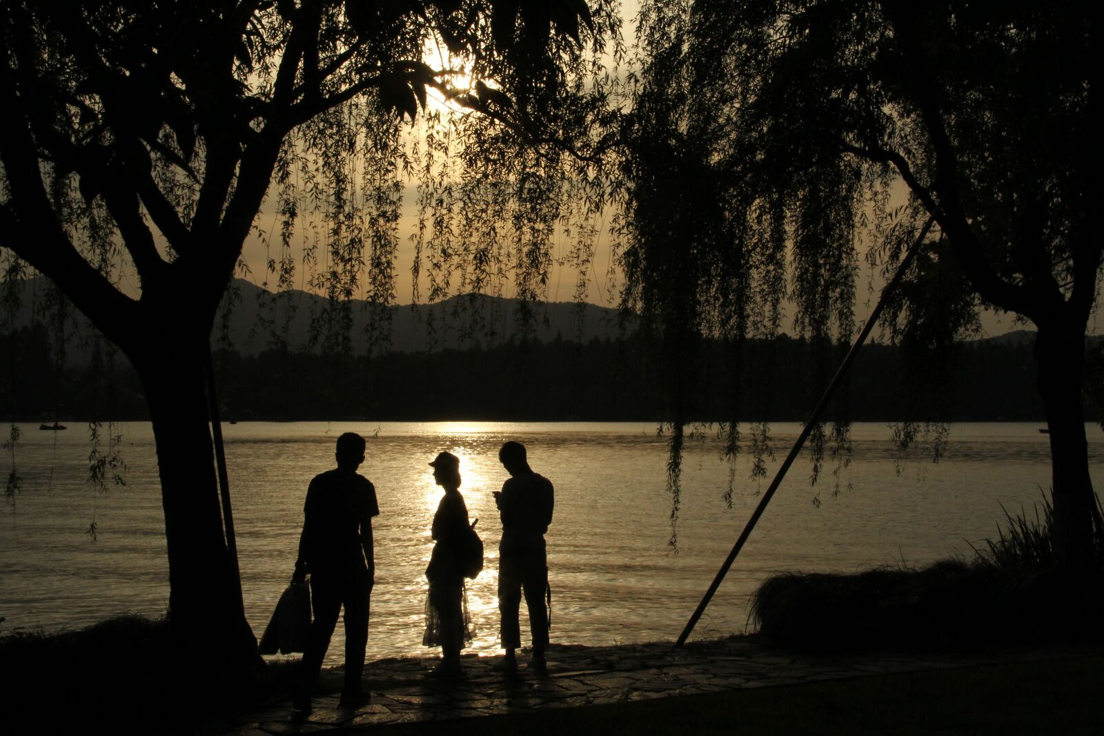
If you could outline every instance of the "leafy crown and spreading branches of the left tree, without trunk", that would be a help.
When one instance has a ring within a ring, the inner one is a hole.
[[[180,288],[221,294],[266,195],[279,245],[321,215],[306,254],[274,249],[279,277],[328,257],[312,286],[340,295],[367,262],[370,298],[390,301],[400,167],[423,168],[434,203],[449,198],[431,177],[453,183],[439,161],[463,143],[505,127],[570,148],[587,120],[561,114],[618,23],[581,1],[28,2],[3,14],[6,108],[23,113],[4,120],[3,244],[64,270],[55,280],[92,314],[130,308],[109,288],[121,268],[142,291],[189,271]],[[457,115],[412,159],[399,119],[426,113],[427,90],[498,125]],[[109,321],[98,327],[119,337]]]

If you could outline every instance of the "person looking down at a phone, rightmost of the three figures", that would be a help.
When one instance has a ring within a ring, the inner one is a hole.
[[[511,673],[518,669],[516,650],[521,646],[521,595],[524,591],[529,609],[529,630],[533,654],[530,669],[545,674],[544,648],[549,643],[548,555],[544,533],[552,523],[554,493],[552,482],[533,472],[526,458],[526,446],[509,441],[502,445],[498,459],[510,473],[501,491],[495,492],[495,504],[502,519],[502,541],[498,554],[498,608],[501,615],[505,659],[492,669]],[[549,595],[551,598],[551,595]]]

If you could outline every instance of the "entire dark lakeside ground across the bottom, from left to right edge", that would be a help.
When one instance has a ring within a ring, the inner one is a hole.
[[[464,658],[466,676],[426,673],[436,659],[365,669],[371,700],[338,707],[340,668],[323,671],[315,708],[291,708],[297,659],[223,681],[205,652],[169,644],[163,620],[110,619],[57,634],[0,638],[0,726],[110,733],[1104,733],[1104,644],[898,651],[800,650],[758,636],[612,647],[553,644],[549,673],[503,676],[500,657]]]

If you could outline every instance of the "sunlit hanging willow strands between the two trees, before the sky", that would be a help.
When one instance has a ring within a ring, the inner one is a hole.
[[[416,117],[396,119],[381,89],[311,118],[285,140],[269,195],[273,224],[258,228],[267,253],[263,285],[330,298],[311,316],[314,345],[350,351],[348,302],[355,297],[369,310],[370,350],[386,348],[404,206],[413,205],[416,222],[414,303],[511,296],[521,301],[524,331],[562,265],[578,275],[582,300],[601,236],[595,220],[609,191],[601,175],[603,135],[612,130],[619,94],[611,66],[625,53],[614,10],[596,3],[590,31],[578,32],[587,43],[554,43],[548,56],[555,64],[526,51],[514,61],[526,74],[496,57],[493,41],[475,55],[454,56],[443,39],[433,39],[433,53],[424,53],[443,56],[454,73],[418,98]],[[522,23],[519,35],[528,32]],[[414,54],[418,43],[426,43],[424,32],[402,53]],[[502,74],[512,75],[512,84],[500,81]],[[571,244],[558,257],[564,236]],[[503,317],[490,320],[480,311],[486,305],[471,300],[465,330],[475,334]],[[286,343],[293,318],[291,311],[269,313],[264,327],[273,344]],[[432,335],[436,326],[426,328]]]

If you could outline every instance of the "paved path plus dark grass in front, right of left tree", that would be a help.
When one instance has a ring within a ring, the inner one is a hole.
[[[203,733],[808,734],[1104,733],[1096,644],[936,653],[783,651],[755,637],[622,647],[553,647],[549,676],[468,658],[456,682],[429,658],[370,666],[372,701],[337,707],[327,674],[309,716],[286,700]],[[522,662],[524,660],[522,659]]]

